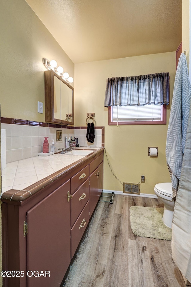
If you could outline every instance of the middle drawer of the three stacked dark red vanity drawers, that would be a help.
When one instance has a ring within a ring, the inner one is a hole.
[[[71,226],[89,200],[89,178],[77,189],[71,199]]]

